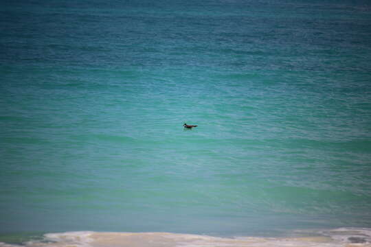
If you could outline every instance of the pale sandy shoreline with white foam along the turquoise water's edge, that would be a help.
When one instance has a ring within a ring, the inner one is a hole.
[[[371,247],[371,228],[337,228],[295,231],[293,237],[214,237],[183,233],[125,233],[75,231],[46,233],[41,239],[22,244],[0,240],[0,247],[204,247],[204,246],[306,246],[306,247]],[[300,236],[301,235],[301,236]]]

